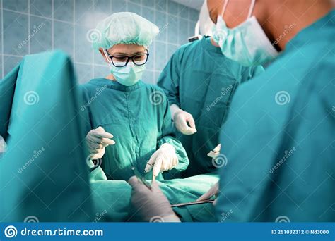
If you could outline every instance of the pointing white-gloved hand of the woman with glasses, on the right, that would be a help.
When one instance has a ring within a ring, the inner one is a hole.
[[[146,164],[144,171],[148,173],[153,169],[153,175],[158,176],[163,171],[168,171],[179,163],[175,147],[172,144],[164,143],[153,153]]]

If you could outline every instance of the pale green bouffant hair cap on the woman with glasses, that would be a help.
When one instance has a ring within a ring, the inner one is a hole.
[[[110,49],[115,44],[148,46],[158,35],[158,27],[136,13],[113,13],[98,23],[93,39],[94,49]]]

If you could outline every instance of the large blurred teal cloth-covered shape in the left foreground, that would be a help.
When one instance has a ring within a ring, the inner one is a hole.
[[[0,221],[92,221],[83,119],[69,56],[25,56],[0,81]]]

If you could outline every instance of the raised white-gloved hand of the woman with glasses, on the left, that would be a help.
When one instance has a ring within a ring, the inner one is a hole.
[[[102,158],[105,154],[105,147],[110,144],[115,144],[114,140],[110,140],[112,137],[113,135],[105,132],[101,126],[88,132],[86,135],[86,143],[91,160]]]

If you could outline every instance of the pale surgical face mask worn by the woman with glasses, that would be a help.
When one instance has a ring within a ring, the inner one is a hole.
[[[146,65],[136,66],[130,60],[127,63],[127,66],[115,67],[106,52],[105,56],[107,56],[108,63],[110,65],[110,73],[114,76],[115,80],[122,85],[135,85],[142,78],[143,71],[146,70]],[[145,61],[143,61],[143,63],[145,63]]]

